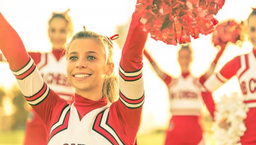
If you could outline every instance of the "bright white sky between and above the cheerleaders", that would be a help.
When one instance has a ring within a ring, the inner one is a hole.
[[[0,11],[21,36],[28,51],[48,52],[51,51],[51,44],[47,36],[47,22],[53,11],[63,12],[70,8],[69,15],[74,25],[74,32],[83,30],[85,25],[87,30],[112,36],[116,33],[117,25],[128,22],[135,3],[136,0],[0,0]],[[220,23],[230,19],[238,23],[246,21],[252,11],[251,7],[256,7],[256,0],[226,0],[215,18]],[[180,75],[177,62],[179,46],[166,45],[149,38],[146,48],[162,70],[173,77]],[[200,76],[209,68],[218,49],[212,45],[211,35],[192,40],[192,48],[192,75]],[[241,48],[232,44],[227,45],[216,71],[218,72],[233,57],[251,50],[250,42],[245,42]],[[121,49],[116,44],[114,55],[118,66]],[[165,128],[170,119],[167,87],[146,59],[144,59],[143,75],[146,100],[141,132],[159,127]],[[14,82],[8,64],[0,62],[0,85],[8,89]],[[237,91],[239,92],[238,81],[232,78],[213,95],[218,102],[223,94],[228,95]]]

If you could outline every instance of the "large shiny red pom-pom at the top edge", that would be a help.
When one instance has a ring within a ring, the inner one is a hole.
[[[218,23],[213,15],[225,0],[137,0],[135,13],[151,38],[166,44],[191,42],[199,34],[210,34]]]

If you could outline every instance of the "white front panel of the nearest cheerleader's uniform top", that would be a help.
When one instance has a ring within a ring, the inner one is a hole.
[[[82,118],[81,121],[74,105],[72,104],[71,107],[67,107],[65,111],[67,111],[69,108],[70,116],[67,129],[61,131],[58,133],[58,135],[56,134],[56,136],[50,140],[48,145],[73,145],[74,141],[76,141],[75,145],[112,145],[106,138],[102,138],[100,134],[92,129],[95,126],[94,122],[96,120],[97,114],[106,109],[103,113],[101,126],[105,126],[106,130],[109,132],[112,131],[113,135],[115,135],[114,131],[104,123],[106,122],[109,111],[108,106],[97,108],[89,112]],[[59,122],[63,122],[64,119],[65,118],[61,118]],[[52,126],[51,130],[53,130],[54,127],[55,126]],[[116,136],[116,139],[118,140],[119,138]],[[123,145],[121,141],[119,142],[120,145]]]

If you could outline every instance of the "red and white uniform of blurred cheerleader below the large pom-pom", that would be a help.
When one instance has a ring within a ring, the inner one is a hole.
[[[166,132],[165,145],[198,145],[202,141],[199,118],[204,103],[214,116],[215,104],[211,94],[203,88],[199,78],[189,73],[172,78],[160,70],[147,51],[144,54],[168,86],[172,118]]]

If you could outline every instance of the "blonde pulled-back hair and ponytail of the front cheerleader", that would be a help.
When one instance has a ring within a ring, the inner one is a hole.
[[[105,36],[99,35],[91,31],[80,31],[73,36],[73,38],[71,39],[70,43],[67,45],[65,50],[66,59],[67,59],[69,46],[76,39],[96,40],[99,43],[100,47],[102,48],[103,54],[106,56],[106,64],[113,63],[113,46],[110,44],[111,42],[106,40]],[[104,97],[107,97],[108,101],[114,102],[116,100],[118,90],[119,90],[119,87],[118,87],[117,76],[114,73],[112,73],[111,75],[106,75],[103,82],[102,95]]]

